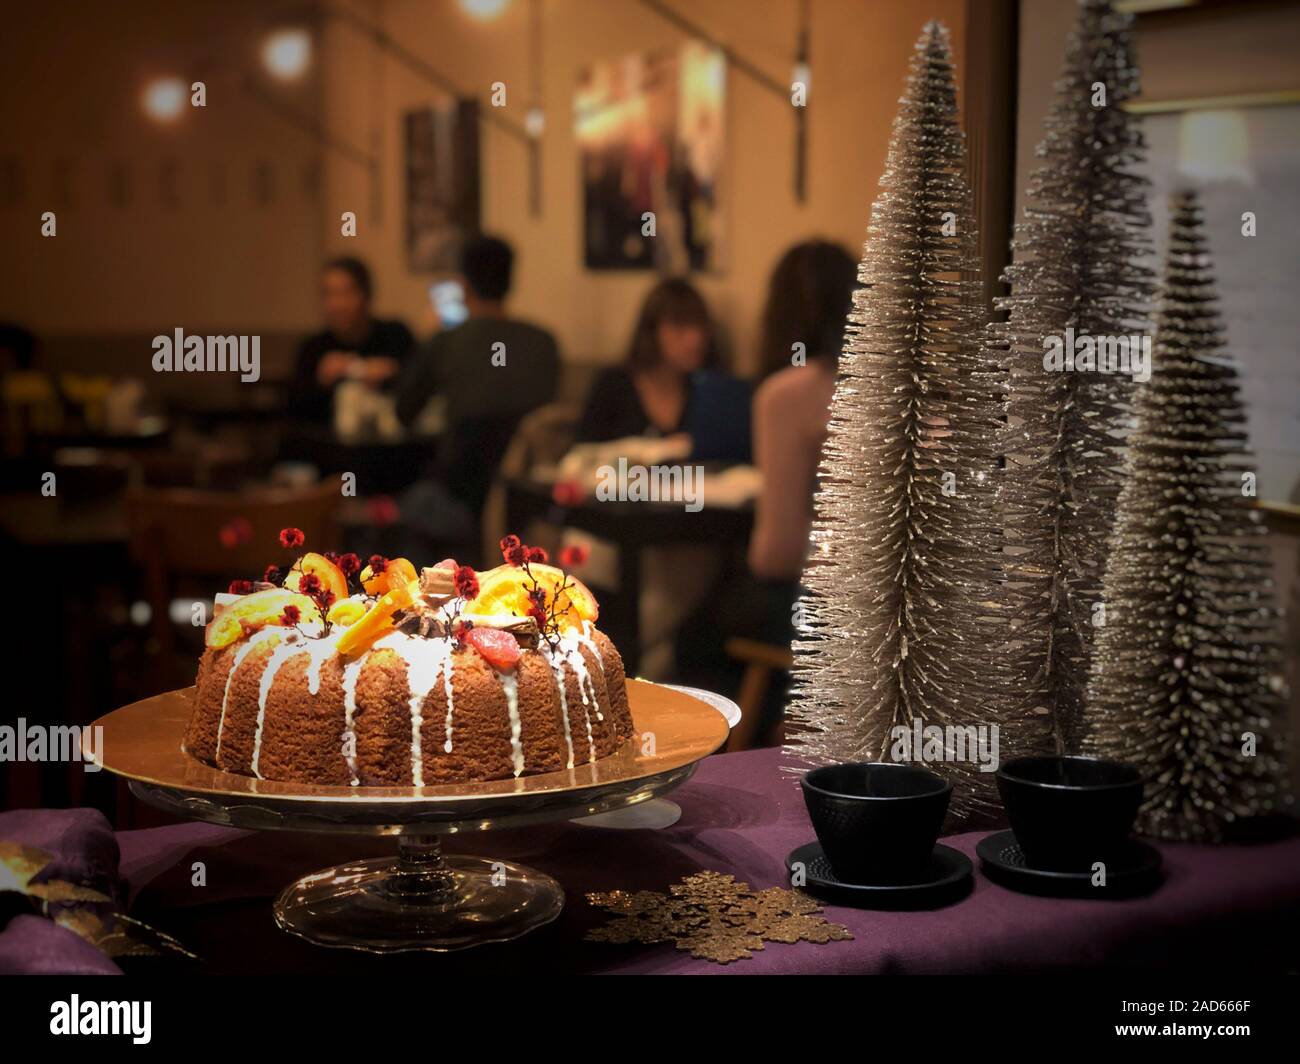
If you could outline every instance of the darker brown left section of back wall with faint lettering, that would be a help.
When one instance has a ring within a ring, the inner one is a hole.
[[[0,319],[56,341],[313,321],[324,246],[309,181],[317,152],[238,87],[256,69],[266,9],[252,0],[6,5]],[[142,87],[162,74],[207,81],[208,107],[165,127],[147,120]],[[312,85],[285,99],[316,107]],[[118,165],[125,203],[109,191]],[[259,165],[270,174],[269,202],[254,194]],[[168,166],[174,200],[162,189]],[[39,232],[47,209],[57,215],[53,238]]]

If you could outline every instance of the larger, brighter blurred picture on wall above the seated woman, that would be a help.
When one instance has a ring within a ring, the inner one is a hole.
[[[588,269],[722,269],[725,81],[723,53],[698,42],[580,73]]]

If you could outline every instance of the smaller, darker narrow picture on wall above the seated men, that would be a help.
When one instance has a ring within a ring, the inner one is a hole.
[[[407,267],[454,269],[480,225],[478,104],[451,100],[403,116]]]

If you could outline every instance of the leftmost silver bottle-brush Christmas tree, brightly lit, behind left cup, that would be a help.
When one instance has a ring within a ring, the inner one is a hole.
[[[1005,373],[979,342],[978,238],[939,23],[916,43],[880,186],[796,618],[800,730],[788,751],[800,762],[920,760],[918,725],[968,744],[965,730],[989,723],[984,708],[1005,682],[989,667],[978,594],[1000,539],[991,506]],[[992,809],[976,749],[931,744],[928,754],[961,779],[957,818]]]

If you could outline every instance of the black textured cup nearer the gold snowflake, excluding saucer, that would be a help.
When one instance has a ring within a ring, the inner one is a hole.
[[[953,786],[914,765],[858,761],[801,780],[812,830],[836,878],[911,883],[930,869]]]

